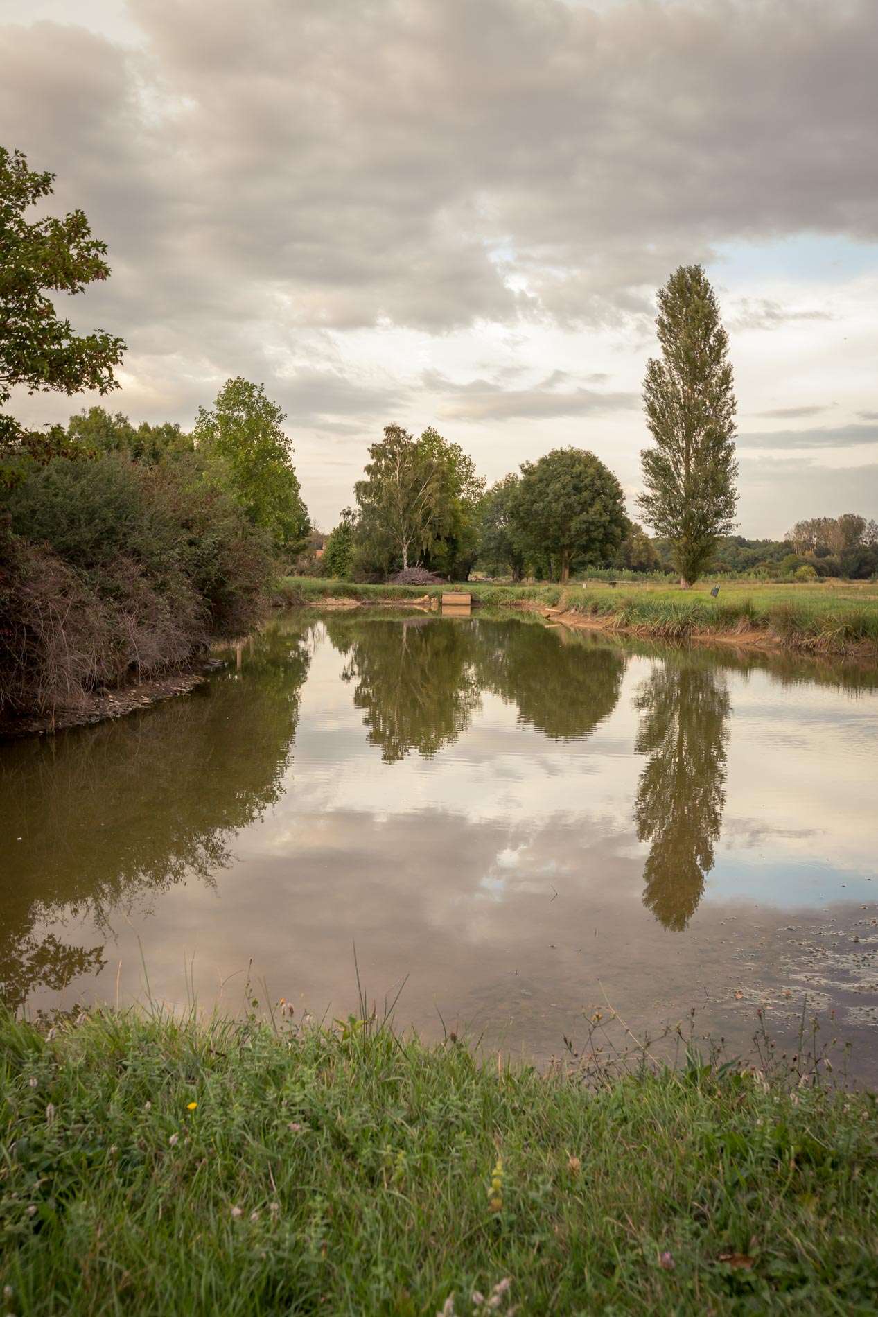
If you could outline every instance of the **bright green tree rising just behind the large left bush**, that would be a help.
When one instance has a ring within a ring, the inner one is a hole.
[[[311,527],[284,420],[263,385],[238,375],[226,381],[211,410],[199,408],[194,439],[213,478],[234,494],[249,520],[292,549]]]

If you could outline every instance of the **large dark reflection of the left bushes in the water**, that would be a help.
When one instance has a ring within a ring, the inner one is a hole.
[[[105,963],[109,914],[209,882],[236,832],[282,794],[309,652],[259,636],[241,674],[143,715],[29,738],[0,756],[0,1000],[22,1005]],[[95,944],[46,926],[87,918]],[[42,926],[42,928],[41,928]]]

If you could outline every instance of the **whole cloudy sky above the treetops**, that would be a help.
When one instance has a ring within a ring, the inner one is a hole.
[[[878,0],[0,0],[0,142],[109,246],[68,309],[128,342],[113,410],[265,382],[321,524],[390,421],[488,481],[588,448],[631,502],[694,261],[742,533],[878,515]]]

